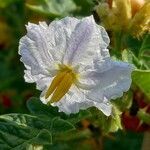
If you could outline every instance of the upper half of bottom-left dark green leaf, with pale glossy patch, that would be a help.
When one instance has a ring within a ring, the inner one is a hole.
[[[38,117],[27,114],[7,114],[0,116],[0,119],[14,122],[19,126],[28,126],[39,130],[46,129],[53,132],[54,134],[57,132],[60,133],[75,129],[73,124],[59,117],[47,118],[44,116]]]

